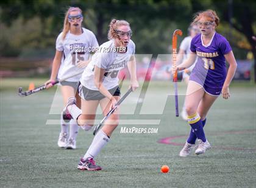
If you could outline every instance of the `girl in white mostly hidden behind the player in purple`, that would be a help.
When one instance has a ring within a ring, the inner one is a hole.
[[[182,61],[187,60],[188,55],[191,53],[191,51],[190,51],[191,40],[194,38],[194,36],[196,36],[199,33],[199,29],[196,24],[191,23],[190,27],[188,28],[188,32],[190,33],[190,35],[185,37],[180,44],[180,50],[179,50],[179,54],[178,54],[178,58],[177,58],[177,64],[180,64]],[[196,59],[196,61],[197,61],[197,59]],[[190,72],[193,70],[196,61],[194,61],[194,64],[191,65],[191,67],[183,70],[183,72],[182,72],[183,81],[185,81],[185,83],[187,85],[188,85],[188,81],[190,80]],[[181,115],[182,115],[182,118],[187,121],[188,115],[185,110],[185,102],[183,104]]]

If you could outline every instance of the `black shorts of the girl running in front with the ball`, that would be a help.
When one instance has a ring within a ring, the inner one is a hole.
[[[108,92],[110,92],[111,95],[113,95],[113,96],[121,95],[119,86],[116,86],[116,87],[108,90]],[[82,86],[82,84],[80,84],[80,83],[79,83],[79,87],[78,87],[78,93],[82,99],[87,100],[87,101],[100,101],[101,99],[105,98],[105,96],[102,95],[102,93],[99,92],[98,90],[90,90],[87,87]]]

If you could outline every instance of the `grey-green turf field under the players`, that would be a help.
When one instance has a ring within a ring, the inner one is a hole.
[[[205,126],[212,149],[204,155],[179,157],[190,127],[175,117],[170,96],[162,115],[121,116],[160,119],[159,125],[133,125],[158,128],[158,133],[121,134],[121,127],[133,126],[120,125],[96,158],[103,170],[87,172],[76,166],[93,139],[92,131],[80,130],[77,149],[65,150],[57,147],[60,126],[46,125],[48,119],[59,119],[49,115],[55,90],[21,98],[17,88],[27,87],[29,79],[0,82],[0,187],[255,187],[255,85],[233,84],[232,97],[215,102]],[[152,86],[155,93],[165,93],[170,83]],[[131,100],[127,98],[128,104]],[[179,100],[181,107],[183,97]],[[161,173],[162,165],[168,165],[170,172]]]

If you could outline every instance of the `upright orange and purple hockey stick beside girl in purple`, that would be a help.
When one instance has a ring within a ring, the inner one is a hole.
[[[176,29],[172,35],[172,66],[176,67],[177,62],[177,35],[182,36],[182,31]],[[173,83],[174,83],[174,95],[175,95],[175,110],[176,117],[179,117],[179,103],[178,103],[178,70],[173,74]]]

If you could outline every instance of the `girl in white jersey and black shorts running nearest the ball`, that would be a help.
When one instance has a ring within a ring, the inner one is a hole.
[[[130,72],[130,87],[133,91],[138,87],[134,57],[135,44],[130,40],[132,35],[130,25],[127,21],[113,19],[109,27],[110,41],[99,47],[80,79],[79,95],[82,98],[82,112],[76,106],[74,97],[69,98],[66,106],[65,114],[70,114],[84,130],[90,130],[93,126],[99,104],[104,116],[115,107],[120,95],[117,77],[119,70],[127,66]],[[94,136],[84,157],[80,159],[78,169],[101,170],[101,167],[95,164],[94,158],[110,141],[113,130],[118,126],[118,113],[119,110],[116,110]]]

